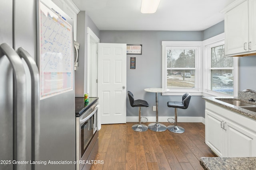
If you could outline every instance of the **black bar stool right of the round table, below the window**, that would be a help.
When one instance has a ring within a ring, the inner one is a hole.
[[[191,95],[189,93],[185,93],[182,96],[182,102],[167,102],[168,107],[174,107],[175,109],[175,119],[174,122],[170,122],[169,118],[167,119],[169,123],[174,123],[174,125],[169,125],[167,129],[173,133],[184,133],[185,129],[177,125],[177,108],[187,109],[190,102]]]

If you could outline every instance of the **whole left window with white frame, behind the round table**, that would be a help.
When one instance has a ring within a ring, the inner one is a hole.
[[[162,41],[163,88],[171,92],[199,92],[201,41]]]

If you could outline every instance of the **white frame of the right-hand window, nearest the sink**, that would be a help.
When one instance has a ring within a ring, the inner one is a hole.
[[[204,57],[203,57],[203,95],[204,96],[230,96],[228,94],[223,94],[219,92],[214,92],[208,89],[209,86],[209,50],[211,47],[216,47],[218,45],[224,44],[225,35],[224,33],[216,35],[212,38],[202,41]],[[234,92],[233,96],[238,96],[238,57],[234,57]],[[230,96],[231,97],[231,96]]]

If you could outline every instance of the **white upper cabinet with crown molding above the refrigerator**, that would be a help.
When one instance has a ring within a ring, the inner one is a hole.
[[[77,27],[77,14],[80,10],[72,2],[72,0],[52,0],[62,11],[64,11],[70,18],[73,19],[73,31],[74,31],[74,41],[76,41],[76,27]]]

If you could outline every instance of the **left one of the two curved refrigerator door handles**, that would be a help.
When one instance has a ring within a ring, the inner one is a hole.
[[[26,75],[22,60],[8,44],[0,45],[0,57],[6,56],[13,70],[13,159],[26,160]],[[14,164],[14,170],[26,169],[25,164]]]

